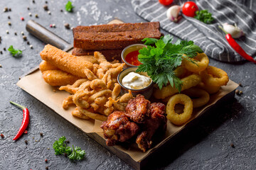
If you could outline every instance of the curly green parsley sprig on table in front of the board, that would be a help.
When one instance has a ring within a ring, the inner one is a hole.
[[[53,143],[53,149],[55,154],[67,154],[70,160],[81,160],[85,157],[85,151],[82,150],[80,147],[75,147],[72,145],[73,150],[71,147],[68,146],[65,142],[65,136],[60,137],[59,140],[56,140]]]

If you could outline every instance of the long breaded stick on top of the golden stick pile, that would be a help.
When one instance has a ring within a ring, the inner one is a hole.
[[[87,78],[88,70],[92,71],[93,69],[92,62],[70,55],[52,45],[46,45],[40,55],[46,62],[78,77]]]

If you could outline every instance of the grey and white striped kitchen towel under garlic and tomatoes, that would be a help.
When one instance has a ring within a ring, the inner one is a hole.
[[[186,0],[174,0],[171,5],[179,5]],[[215,60],[240,62],[244,60],[225,40],[218,26],[220,23],[235,23],[245,36],[236,39],[239,45],[252,57],[256,55],[256,8],[255,0],[196,0],[199,10],[207,9],[213,14],[212,24],[206,24],[195,18],[183,15],[178,23],[169,21],[166,10],[170,6],[159,4],[159,0],[132,0],[134,11],[147,21],[159,21],[162,29],[183,40],[193,40],[196,45]]]

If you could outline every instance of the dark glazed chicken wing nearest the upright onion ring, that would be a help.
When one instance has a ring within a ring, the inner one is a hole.
[[[149,116],[145,118],[142,124],[142,132],[137,136],[136,143],[139,149],[146,152],[152,144],[152,137],[156,131],[166,131],[166,115],[164,115],[165,106],[163,103],[151,103],[149,107]]]

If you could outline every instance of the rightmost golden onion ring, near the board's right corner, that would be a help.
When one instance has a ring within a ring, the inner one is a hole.
[[[213,66],[208,66],[200,75],[207,86],[225,86],[229,80],[226,72]]]

